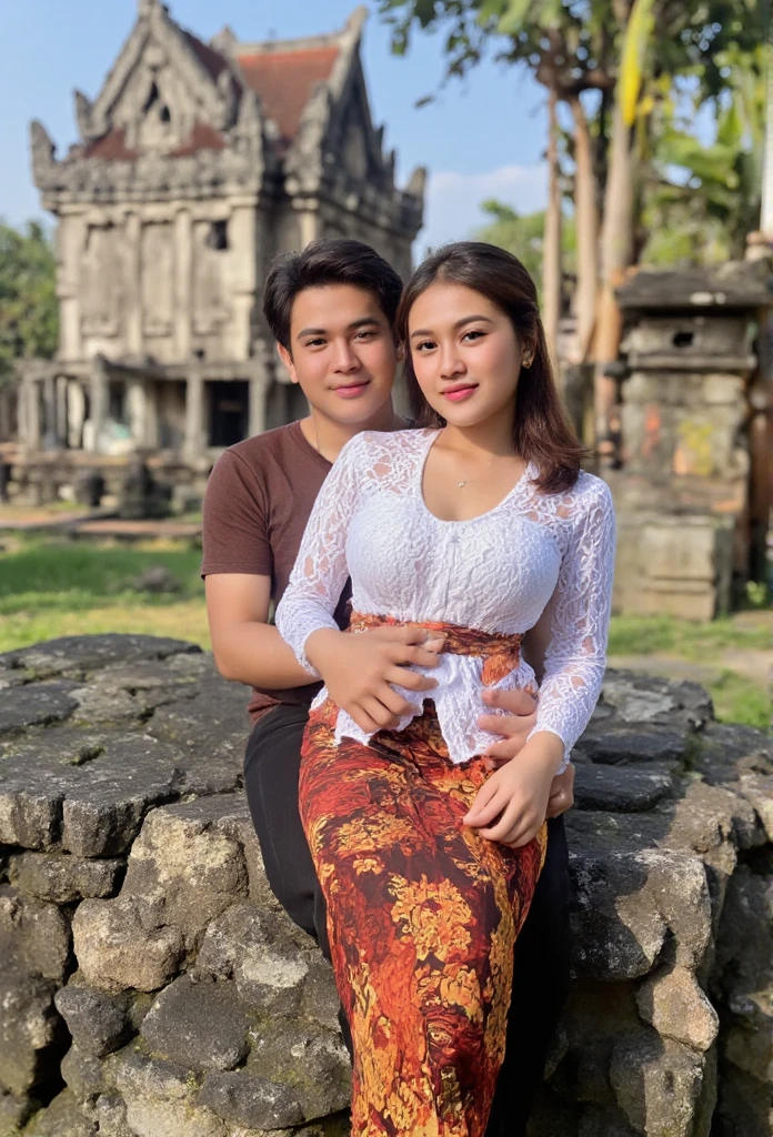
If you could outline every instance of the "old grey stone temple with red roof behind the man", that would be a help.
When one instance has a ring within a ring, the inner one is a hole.
[[[319,236],[374,246],[402,275],[424,171],[406,189],[368,107],[358,9],[343,31],[203,43],[159,0],[101,92],[75,93],[80,142],[32,165],[58,219],[60,345],[24,368],[16,476],[39,495],[136,451],[201,483],[224,447],[305,413],[264,324],[277,252]]]

